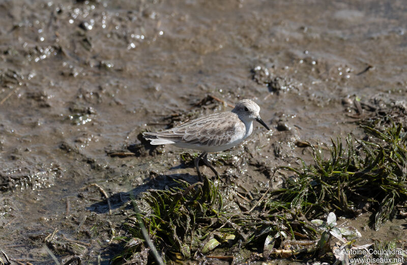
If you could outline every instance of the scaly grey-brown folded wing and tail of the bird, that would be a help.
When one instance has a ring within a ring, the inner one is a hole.
[[[187,143],[221,146],[229,143],[235,136],[238,122],[241,121],[235,113],[223,112],[198,118],[172,129],[144,132],[143,135],[144,138],[153,140],[152,144],[157,142],[157,144]]]

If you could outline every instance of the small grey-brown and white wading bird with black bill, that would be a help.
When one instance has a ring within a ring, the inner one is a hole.
[[[240,144],[251,134],[254,120],[270,130],[259,112],[260,107],[255,102],[241,100],[231,111],[203,116],[168,130],[143,132],[143,137],[151,140],[152,145],[171,144],[203,151],[194,161],[198,177],[202,180],[198,167],[201,158],[219,176],[208,161],[208,152],[219,152]]]

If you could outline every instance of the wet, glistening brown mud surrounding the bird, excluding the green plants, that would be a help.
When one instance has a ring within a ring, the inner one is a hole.
[[[306,141],[360,136],[359,102],[405,100],[405,21],[403,1],[3,1],[0,248],[24,263],[51,264],[51,251],[107,264],[131,196],[171,176],[196,181],[183,150],[146,149],[140,132],[242,98],[271,130],[256,124],[210,155],[241,191],[267,188],[276,165],[311,161]],[[405,240],[405,225],[362,239]]]

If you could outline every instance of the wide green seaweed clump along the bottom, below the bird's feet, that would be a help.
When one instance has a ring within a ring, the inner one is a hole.
[[[177,182],[176,188],[149,190],[143,194],[141,210],[136,209],[124,222],[128,237],[117,238],[126,242],[124,250],[111,263],[157,260],[154,251],[144,246],[150,239],[143,238],[143,226],[159,252],[159,259],[165,262],[234,259],[236,255],[232,253],[243,250],[247,253],[243,257],[246,260],[313,255],[317,231],[301,217],[289,213],[224,211],[219,185],[207,178],[194,184]],[[278,247],[283,249],[276,249]],[[263,253],[251,255],[259,251]],[[210,252],[222,254],[211,256]]]

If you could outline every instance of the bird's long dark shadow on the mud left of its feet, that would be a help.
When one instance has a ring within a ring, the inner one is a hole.
[[[120,208],[125,203],[131,200],[131,198],[138,198],[139,195],[149,189],[166,189],[178,186],[174,180],[184,180],[189,183],[195,183],[198,181],[198,176],[190,174],[170,174],[170,175],[158,175],[155,178],[150,179],[147,183],[139,185],[128,192],[118,192],[109,197],[111,210]],[[131,205],[129,209],[133,208]],[[92,204],[87,210],[98,214],[108,213],[109,206],[107,200]]]

